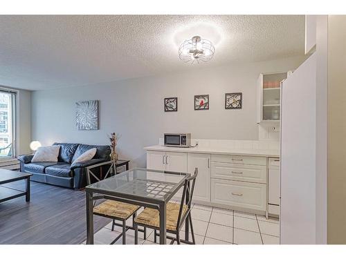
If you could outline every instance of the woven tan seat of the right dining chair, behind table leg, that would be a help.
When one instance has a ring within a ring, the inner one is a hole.
[[[176,230],[181,204],[168,202],[166,206],[166,229]],[[188,206],[183,204],[181,216],[188,210]],[[145,208],[134,220],[136,223],[145,224],[151,227],[160,227],[160,216],[157,209]]]

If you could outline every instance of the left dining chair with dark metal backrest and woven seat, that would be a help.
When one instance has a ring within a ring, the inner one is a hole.
[[[100,180],[104,180],[109,176],[116,174],[116,165],[113,161],[104,162],[102,163],[102,166],[110,165],[107,173],[104,175],[103,178],[98,177],[95,175],[91,169],[93,169],[95,166],[88,166],[86,167],[86,182],[87,184],[91,184],[91,176],[95,178],[96,182],[99,182]],[[96,165],[100,166],[100,164]],[[101,178],[101,179],[100,179]],[[95,206],[95,204],[94,204]],[[136,217],[136,213],[140,209],[139,206],[134,204],[128,204],[125,202],[118,202],[116,200],[106,200],[102,202],[101,204],[98,204],[97,206],[93,207],[93,214],[99,215],[104,218],[111,218],[113,220],[111,231],[114,231],[114,227],[122,227],[122,233],[114,239],[111,244],[114,244],[118,239],[122,236],[122,244],[126,244],[126,231],[129,229],[134,229],[134,218]],[[132,226],[126,225],[126,220],[128,220],[132,216]],[[116,220],[120,221],[121,223],[116,222]],[[138,231],[143,232],[144,239],[147,238],[147,229],[144,227],[144,229],[138,229]]]

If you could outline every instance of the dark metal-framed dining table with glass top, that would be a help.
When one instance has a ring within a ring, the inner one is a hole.
[[[160,244],[165,244],[166,204],[189,176],[190,173],[136,168],[86,186],[86,244],[93,244],[93,201],[99,199],[157,209],[160,215]],[[188,220],[189,217],[185,220],[187,241]]]

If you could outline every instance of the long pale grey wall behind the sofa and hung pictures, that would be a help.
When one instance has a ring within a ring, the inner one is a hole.
[[[53,142],[108,144],[107,133],[122,135],[120,157],[145,166],[144,146],[163,133],[192,133],[200,139],[257,140],[256,81],[260,73],[297,68],[304,57],[235,64],[186,73],[113,81],[33,92],[32,138]],[[225,110],[225,93],[242,92],[243,108]],[[210,109],[194,111],[194,95],[209,94]],[[178,112],[163,111],[164,97],[178,97]],[[75,102],[100,100],[100,130],[77,131]]]

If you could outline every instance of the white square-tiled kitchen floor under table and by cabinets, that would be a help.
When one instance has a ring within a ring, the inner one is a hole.
[[[127,224],[131,225],[131,219]],[[275,218],[267,220],[262,215],[194,204],[192,224],[197,244],[279,244],[279,221]],[[120,227],[111,231],[109,223],[95,233],[94,242],[109,244],[120,231]],[[181,231],[181,237],[183,236],[185,233]],[[147,229],[147,240],[143,239],[141,232],[138,233],[138,237],[138,244],[155,244],[152,229]],[[134,244],[133,230],[127,231],[126,240],[127,244]],[[167,243],[169,242],[170,240],[167,240]],[[122,238],[116,244],[122,244]]]

